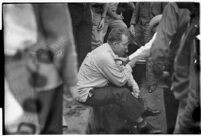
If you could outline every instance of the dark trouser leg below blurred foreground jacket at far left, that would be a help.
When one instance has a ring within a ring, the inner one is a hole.
[[[42,134],[62,134],[62,94],[62,85],[37,94],[41,102],[38,116]]]

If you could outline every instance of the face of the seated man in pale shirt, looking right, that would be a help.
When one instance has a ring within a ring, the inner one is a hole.
[[[126,57],[129,44],[128,36],[122,35],[122,41],[115,44],[116,45],[114,45],[113,49],[114,53],[117,54],[119,57]]]

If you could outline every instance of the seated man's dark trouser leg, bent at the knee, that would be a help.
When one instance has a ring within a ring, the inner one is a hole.
[[[96,107],[108,104],[117,104],[121,108],[121,112],[132,122],[141,117],[144,112],[143,105],[135,98],[129,89],[119,87],[104,87],[94,89],[93,96],[89,97],[85,104]]]

